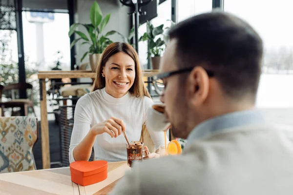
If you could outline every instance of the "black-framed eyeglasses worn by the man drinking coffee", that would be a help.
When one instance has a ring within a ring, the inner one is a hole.
[[[161,74],[152,76],[151,82],[153,83],[153,86],[155,87],[155,91],[159,95],[162,95],[163,91],[164,91],[164,82],[163,82],[164,78],[168,78],[173,75],[177,75],[177,74],[181,74],[181,73],[191,72],[193,70],[193,68],[194,67],[189,67],[189,68],[184,68],[184,69],[175,70],[175,71],[171,71],[171,72],[167,72],[167,73],[161,73]],[[206,69],[205,69],[205,71],[207,72],[209,77],[214,76],[214,72],[206,70]]]

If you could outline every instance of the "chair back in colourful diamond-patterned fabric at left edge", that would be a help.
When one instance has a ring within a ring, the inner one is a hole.
[[[0,173],[35,170],[36,117],[0,117]]]

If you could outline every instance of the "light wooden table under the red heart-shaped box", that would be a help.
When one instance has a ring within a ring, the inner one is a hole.
[[[108,178],[81,186],[73,183],[69,167],[0,174],[1,195],[106,195],[130,170],[127,161],[108,163]]]

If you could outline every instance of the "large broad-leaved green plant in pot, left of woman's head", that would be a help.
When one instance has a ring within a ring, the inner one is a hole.
[[[84,58],[89,54],[89,63],[90,63],[91,69],[95,71],[103,51],[110,43],[113,42],[111,39],[108,38],[108,36],[118,32],[112,30],[105,33],[104,35],[102,34],[105,26],[110,20],[111,14],[107,14],[103,19],[101,8],[96,1],[94,1],[94,3],[92,4],[90,8],[89,16],[91,21],[90,24],[82,24],[82,23],[72,24],[70,26],[68,36],[70,37],[74,33],[79,35],[77,39],[72,41],[70,45],[71,48],[79,40],[83,41],[82,45],[83,44],[89,45],[88,51],[84,53],[83,57],[81,58],[81,61],[83,61]],[[76,30],[76,28],[80,25],[85,27],[88,33],[88,36],[86,36],[83,32]],[[118,34],[121,35],[120,33]]]

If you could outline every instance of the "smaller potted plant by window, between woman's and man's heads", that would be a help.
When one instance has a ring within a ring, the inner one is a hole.
[[[172,27],[173,25],[174,22],[171,21],[170,27]],[[149,23],[149,21],[147,21],[146,33],[139,39],[139,41],[149,41],[147,58],[151,57],[153,69],[159,69],[160,59],[163,55],[168,40],[166,32],[169,30],[170,27],[166,27],[164,29],[164,24],[154,27],[152,24]]]

